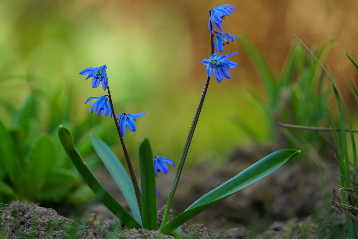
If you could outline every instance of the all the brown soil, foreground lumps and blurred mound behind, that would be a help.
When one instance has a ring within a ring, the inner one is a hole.
[[[194,169],[183,171],[170,218],[268,153],[266,149],[262,152],[256,150],[255,154],[238,149],[225,165],[203,163]],[[335,184],[339,183],[339,178],[335,175],[336,169],[337,163],[323,164],[322,179],[328,199],[335,198]],[[157,187],[162,195],[158,196],[158,206],[166,203],[174,171],[171,170],[168,175],[158,175]],[[105,182],[104,186],[116,200],[129,210],[115,182],[108,180],[108,173],[102,171],[98,178],[100,182]],[[334,227],[332,220],[329,220],[328,211],[333,211],[335,225],[341,228],[344,226],[343,214],[333,209],[329,201],[326,201],[321,183],[313,161],[290,162],[202,212],[170,236],[163,235],[160,231],[128,230],[100,203],[90,209],[90,212],[95,214],[91,216],[89,213],[86,216],[88,219],[79,224],[58,215],[53,209],[40,207],[39,204],[14,201],[5,206],[3,212],[0,211],[0,238],[132,239],[178,238],[180,235],[179,238],[183,239],[315,239],[320,238],[322,232],[329,232]],[[158,211],[159,224],[163,210],[161,208]],[[318,220],[314,220],[311,215],[318,216]],[[332,218],[332,214],[330,217]],[[317,221],[321,223],[318,225]]]

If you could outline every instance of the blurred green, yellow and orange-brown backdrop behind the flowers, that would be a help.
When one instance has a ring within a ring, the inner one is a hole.
[[[238,37],[245,33],[274,75],[286,62],[294,34],[317,48],[337,38],[325,63],[338,76],[343,95],[348,92],[335,66],[349,79],[357,74],[342,51],[353,55],[356,47],[357,1],[5,0],[0,1],[0,120],[7,129],[16,127],[14,119],[33,92],[29,124],[34,133],[26,135],[30,148],[48,133],[57,160],[70,167],[57,136],[58,125],[64,124],[85,157],[97,160],[88,138],[93,133],[124,159],[113,119],[90,115],[91,103],[83,104],[105,93],[101,87],[92,89],[78,72],[107,64],[116,113],[146,111],[136,121],[137,131],[124,138],[134,164],[143,137],[149,137],[155,155],[178,163],[206,78],[200,61],[210,55],[208,10],[221,4],[237,7],[223,31]],[[240,40],[223,53],[236,51],[232,80],[210,83],[188,167],[203,160],[224,162],[232,149],[251,144],[237,118],[255,131],[258,142],[272,143],[272,125],[248,100],[253,94],[267,101],[266,89]],[[346,95],[349,104],[353,97]]]

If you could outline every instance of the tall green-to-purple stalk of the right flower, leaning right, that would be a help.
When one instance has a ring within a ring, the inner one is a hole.
[[[209,16],[211,15],[211,11],[212,11],[212,9],[209,10]],[[212,25],[212,23],[210,23],[210,29],[211,29],[211,33],[210,33],[210,39],[211,39],[211,54],[214,54],[214,32],[213,32],[213,25]],[[193,135],[194,135],[194,131],[195,131],[195,127],[197,126],[198,119],[199,119],[199,115],[200,115],[200,111],[201,111],[201,109],[202,109],[202,107],[203,107],[205,95],[206,95],[206,92],[207,92],[208,87],[209,87],[209,81],[210,81],[210,77],[207,76],[207,79],[206,79],[206,82],[205,82],[205,86],[204,86],[204,90],[203,90],[202,96],[200,97],[200,101],[199,101],[197,110],[195,111],[195,115],[194,115],[194,118],[193,118],[193,121],[192,121],[192,125],[190,126],[190,129],[189,129],[189,133],[188,133],[188,136],[187,136],[187,140],[185,141],[185,144],[184,144],[182,156],[180,156],[178,168],[176,169],[176,173],[175,173],[175,176],[174,176],[174,181],[173,181],[173,184],[171,185],[171,189],[170,189],[168,201],[166,202],[165,211],[164,211],[164,214],[163,214],[163,219],[162,219],[161,225],[160,225],[160,230],[163,229],[163,227],[165,226],[166,221],[167,221],[167,219],[168,219],[168,214],[169,214],[169,210],[170,210],[170,205],[171,205],[171,203],[173,202],[173,198],[174,198],[174,194],[175,194],[175,191],[176,191],[176,187],[178,186],[179,178],[180,178],[180,175],[182,174],[184,162],[185,162],[185,159],[187,158],[187,154],[188,154],[188,151],[189,151],[190,143],[192,142]]]

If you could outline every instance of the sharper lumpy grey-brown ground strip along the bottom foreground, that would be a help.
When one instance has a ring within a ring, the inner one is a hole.
[[[159,212],[160,214],[160,212]],[[330,225],[326,225],[331,230]],[[101,224],[96,215],[78,224],[74,220],[58,215],[53,209],[40,207],[33,203],[13,201],[4,207],[1,214],[0,238],[14,239],[136,239],[136,238],[198,238],[198,239],[279,239],[307,238],[318,239],[320,231],[310,217],[304,220],[294,218],[288,221],[275,221],[269,229],[258,233],[248,231],[244,226],[234,227],[215,233],[202,224],[184,224],[173,235],[163,235],[160,231],[145,229],[128,230],[119,221]]]

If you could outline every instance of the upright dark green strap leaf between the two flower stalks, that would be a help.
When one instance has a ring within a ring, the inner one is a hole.
[[[147,138],[144,138],[139,145],[139,167],[143,227],[148,230],[158,230],[153,153]]]

